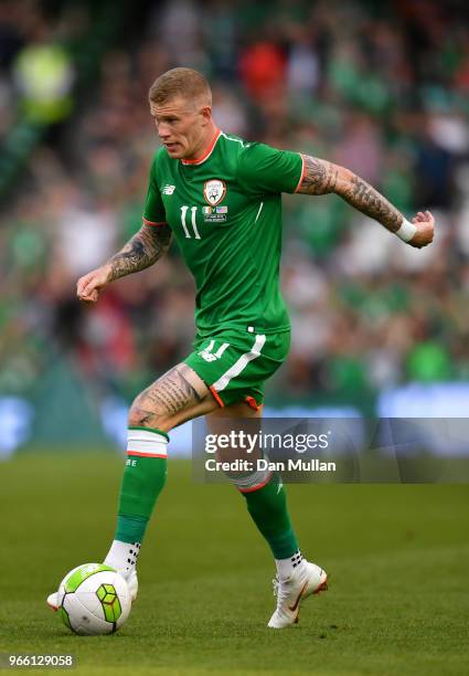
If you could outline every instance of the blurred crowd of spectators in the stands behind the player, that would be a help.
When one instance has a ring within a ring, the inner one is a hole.
[[[148,88],[179,65],[206,74],[224,131],[341,163],[407,218],[430,209],[437,220],[435,243],[417,251],[334,196],[285,198],[294,331],[271,401],[322,392],[353,402],[407,381],[469,378],[465,3],[148,3],[145,24],[107,51],[79,97],[63,36],[76,39],[76,22],[86,32],[86,6],[47,15],[43,6],[0,4],[0,135],[34,104],[30,92],[24,105],[33,44],[56,50],[62,86],[62,114],[0,216],[1,393],[28,397],[66,355],[98,394],[129,400],[190,351],[194,288],[175,247],[96,307],[75,299],[77,277],[140,228],[158,147]]]

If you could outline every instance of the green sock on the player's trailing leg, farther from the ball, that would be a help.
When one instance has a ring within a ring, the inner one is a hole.
[[[260,488],[242,492],[247,510],[267,540],[276,559],[287,559],[298,549],[298,540],[287,508],[287,495],[278,474]]]

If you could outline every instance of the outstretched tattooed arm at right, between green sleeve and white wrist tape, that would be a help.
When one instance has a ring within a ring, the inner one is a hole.
[[[356,173],[316,157],[303,155],[302,158],[303,177],[297,192],[303,194],[334,192],[391,232],[399,229],[404,219],[402,213]]]

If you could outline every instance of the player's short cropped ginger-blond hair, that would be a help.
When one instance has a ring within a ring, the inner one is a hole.
[[[202,73],[192,68],[171,68],[153,82],[149,98],[161,106],[168,101],[182,96],[186,99],[203,99],[205,105],[212,105],[212,92]]]

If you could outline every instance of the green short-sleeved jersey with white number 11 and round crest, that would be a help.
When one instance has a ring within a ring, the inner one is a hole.
[[[201,337],[289,329],[279,289],[281,192],[302,177],[298,152],[217,130],[198,160],[153,159],[143,222],[168,223],[196,284]]]

